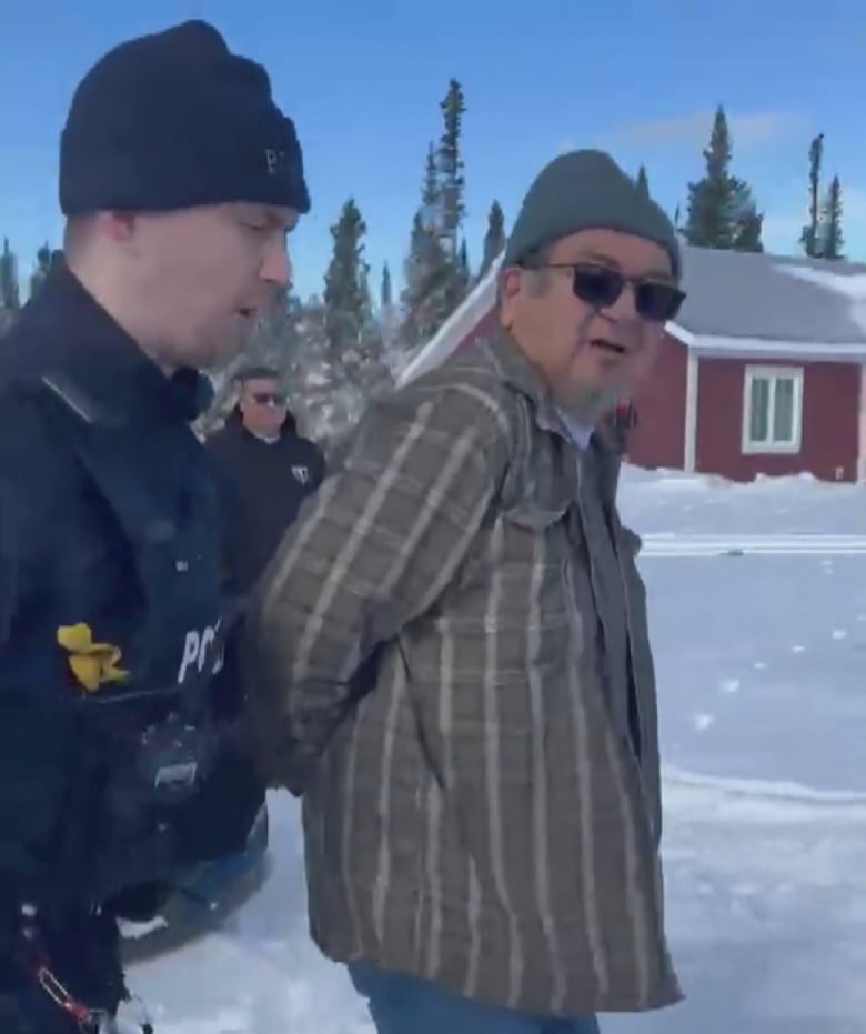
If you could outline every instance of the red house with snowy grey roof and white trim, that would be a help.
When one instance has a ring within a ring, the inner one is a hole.
[[[866,264],[691,247],[683,262],[687,300],[635,400],[628,460],[866,482]],[[493,329],[497,265],[401,382]]]

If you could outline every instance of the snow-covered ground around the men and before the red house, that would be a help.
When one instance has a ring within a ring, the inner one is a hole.
[[[622,506],[646,536],[687,1001],[604,1034],[866,1034],[866,488],[626,470]],[[271,816],[259,895],[132,968],[159,1034],[371,1031],[308,940],[294,802]]]

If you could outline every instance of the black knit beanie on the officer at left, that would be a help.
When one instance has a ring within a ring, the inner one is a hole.
[[[60,208],[310,210],[294,124],[268,73],[203,21],[121,43],[84,76],[60,139]]]

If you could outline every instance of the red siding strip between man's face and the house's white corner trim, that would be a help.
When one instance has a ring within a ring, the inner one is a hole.
[[[682,470],[685,461],[688,350],[665,334],[651,377],[635,396],[637,426],[628,439],[630,463]]]

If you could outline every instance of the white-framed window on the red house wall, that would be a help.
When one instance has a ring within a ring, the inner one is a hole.
[[[743,452],[799,452],[803,370],[746,367]]]

